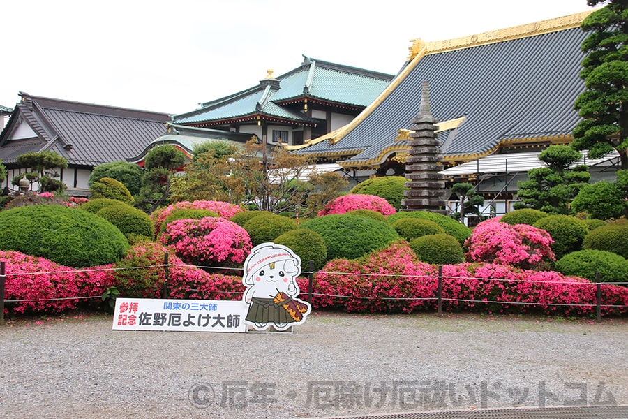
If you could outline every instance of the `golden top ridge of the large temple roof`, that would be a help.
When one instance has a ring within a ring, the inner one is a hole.
[[[412,45],[408,48],[410,54],[407,61],[412,61],[417,56],[421,47],[426,47],[426,55],[436,54],[438,52],[462,50],[464,48],[477,47],[479,45],[488,45],[512,39],[528,38],[529,36],[537,36],[548,34],[550,32],[562,31],[565,29],[573,29],[580,27],[582,21],[595,12],[597,9],[585,10],[581,13],[572,15],[554,17],[553,19],[540,20],[538,22],[520,24],[514,27],[496,29],[494,31],[482,32],[469,36],[461,36],[459,38],[451,38],[443,41],[425,42],[420,38],[412,39]]]

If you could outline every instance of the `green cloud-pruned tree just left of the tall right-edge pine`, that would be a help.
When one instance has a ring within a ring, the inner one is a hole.
[[[517,196],[521,203],[515,209],[533,208],[548,214],[572,214],[571,200],[581,187],[589,182],[587,166],[578,165],[569,170],[580,159],[580,152],[568,145],[551,145],[541,154],[539,160],[547,167],[528,170],[528,180],[518,182]]]

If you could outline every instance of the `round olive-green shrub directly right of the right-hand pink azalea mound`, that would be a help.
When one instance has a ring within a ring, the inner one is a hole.
[[[546,230],[554,240],[552,250],[557,259],[567,253],[581,250],[588,233],[585,223],[571,215],[548,215],[534,223],[534,227]]]

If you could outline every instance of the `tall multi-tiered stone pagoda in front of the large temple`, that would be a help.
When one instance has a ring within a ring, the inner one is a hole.
[[[404,211],[431,211],[447,214],[447,190],[444,189],[444,176],[441,157],[438,155],[440,143],[436,139],[436,120],[430,112],[428,82],[423,82],[419,115],[412,118],[408,140],[408,154],[405,159],[405,186],[401,206]]]

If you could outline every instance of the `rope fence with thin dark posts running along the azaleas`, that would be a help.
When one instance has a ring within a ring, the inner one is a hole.
[[[164,270],[165,281],[163,285],[162,298],[167,299],[169,297],[168,283],[170,277],[170,268],[171,267],[197,267],[206,272],[209,270],[216,270],[216,272],[242,272],[242,268],[239,267],[215,267],[215,266],[195,266],[195,265],[177,265],[168,263],[168,253],[164,253],[164,261],[161,265],[146,265],[146,266],[137,266],[137,267],[103,267],[98,269],[84,269],[84,270],[65,270],[65,271],[54,271],[54,272],[17,272],[6,274],[6,262],[0,261],[0,325],[4,324],[4,307],[5,303],[19,303],[19,302],[45,302],[45,301],[59,301],[59,300],[90,300],[96,298],[103,298],[102,295],[85,295],[81,297],[57,297],[57,298],[45,298],[45,299],[35,299],[35,300],[5,300],[5,288],[6,288],[6,277],[20,277],[20,276],[32,276],[32,275],[50,275],[50,274],[77,274],[79,272],[107,272],[107,271],[122,271],[122,270],[147,270],[154,268],[161,268]],[[617,304],[602,304],[601,302],[601,285],[625,285],[626,283],[619,282],[601,282],[600,274],[597,273],[597,281],[596,282],[576,282],[576,281],[532,281],[527,279],[498,279],[498,278],[482,278],[482,277],[453,277],[453,276],[443,276],[442,274],[442,266],[438,267],[438,288],[436,291],[435,297],[365,297],[365,296],[354,296],[354,295],[334,295],[327,293],[315,293],[314,292],[314,284],[313,279],[315,274],[339,274],[346,276],[360,276],[360,277],[403,277],[408,279],[433,279],[433,275],[403,275],[403,274],[364,274],[357,272],[320,272],[313,270],[313,261],[310,261],[310,270],[301,272],[301,274],[307,274],[308,277],[308,301],[313,302],[313,297],[332,297],[332,298],[341,298],[341,299],[359,299],[359,300],[387,300],[387,301],[436,301],[437,302],[437,311],[439,315],[442,315],[442,302],[468,302],[468,303],[477,303],[477,304],[504,304],[504,305],[526,305],[526,306],[540,306],[540,307],[596,307],[596,318],[597,321],[601,321],[601,308],[618,308],[618,307],[626,307],[626,305],[617,305]],[[521,302],[521,301],[500,301],[500,300],[472,300],[472,299],[464,299],[464,298],[449,298],[443,297],[442,295],[442,286],[444,279],[463,279],[463,280],[474,280],[474,281],[498,281],[498,282],[516,282],[516,283],[533,283],[533,284],[563,284],[568,286],[595,286],[596,287],[596,295],[595,295],[595,304],[594,303],[558,303],[558,302]],[[190,289],[190,291],[199,291],[197,289]],[[220,291],[220,293],[227,295],[234,294],[243,294],[240,291]]]

